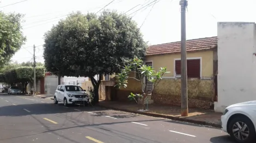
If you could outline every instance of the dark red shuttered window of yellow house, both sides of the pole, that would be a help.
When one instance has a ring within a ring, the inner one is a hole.
[[[181,61],[175,60],[175,74],[181,75]],[[187,60],[187,77],[200,78],[200,59]]]

